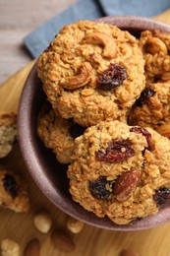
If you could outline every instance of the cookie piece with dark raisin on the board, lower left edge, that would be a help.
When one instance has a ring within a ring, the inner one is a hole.
[[[0,206],[16,213],[28,212],[29,200],[26,183],[13,171],[0,170]]]

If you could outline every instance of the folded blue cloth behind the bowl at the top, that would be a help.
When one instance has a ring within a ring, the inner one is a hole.
[[[170,0],[80,0],[49,22],[28,33],[24,38],[24,43],[32,57],[36,58],[66,24],[109,15],[151,17],[168,8],[170,8]]]

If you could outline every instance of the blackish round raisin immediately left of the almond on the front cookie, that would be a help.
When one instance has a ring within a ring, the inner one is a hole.
[[[89,181],[89,191],[94,198],[106,199],[112,191],[111,182],[106,179],[106,176],[100,176],[93,181]]]

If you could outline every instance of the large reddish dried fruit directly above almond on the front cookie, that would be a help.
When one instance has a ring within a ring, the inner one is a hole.
[[[135,156],[135,151],[129,140],[112,140],[108,143],[105,153],[99,150],[95,156],[97,160],[117,163]]]

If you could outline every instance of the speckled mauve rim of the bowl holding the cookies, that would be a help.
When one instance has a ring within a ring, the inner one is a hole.
[[[111,20],[112,22],[110,22]],[[122,22],[122,19],[124,19],[124,22]],[[131,23],[130,23],[131,20]],[[158,28],[165,29],[165,32],[170,31],[170,26],[167,26],[163,23],[151,20],[149,18],[143,18],[143,17],[135,17],[135,16],[109,16],[104,18],[99,18],[95,20],[97,22],[104,22],[122,27],[124,23],[128,24],[128,28],[133,29],[133,22],[136,21],[136,29],[140,31],[144,31],[143,26],[141,25],[141,21],[144,22],[144,28],[148,28],[150,25],[152,27],[158,26]],[[121,25],[120,25],[121,24]],[[153,26],[154,25],[154,26]],[[154,28],[153,28],[154,29]],[[148,29],[147,29],[148,30]],[[150,29],[149,29],[150,30]],[[164,31],[164,30],[163,30]],[[29,103],[32,100],[32,92],[31,87],[29,84],[30,82],[33,82],[36,78],[36,66],[37,66],[37,60],[33,67],[31,68],[28,78],[26,80],[26,83],[24,85],[22,94],[20,96],[19,100],[19,108],[18,108],[18,138],[19,138],[19,146],[21,148],[21,153],[23,156],[23,159],[26,163],[27,169],[29,174],[31,175],[32,179],[34,180],[37,187],[41,190],[41,192],[48,198],[48,200],[53,203],[57,208],[68,214],[69,216],[72,216],[86,224],[90,224],[95,227],[100,227],[104,229],[111,229],[111,230],[122,230],[122,231],[129,231],[129,230],[141,230],[141,229],[148,229],[160,224],[165,224],[167,222],[170,222],[170,208],[165,208],[159,211],[158,214],[156,214],[156,220],[155,216],[148,216],[142,219],[142,221],[139,221],[135,224],[114,224],[111,221],[106,224],[103,223],[104,219],[96,218],[95,224],[92,224],[89,220],[89,218],[86,218],[86,216],[82,216],[80,213],[75,213],[73,211],[69,211],[67,205],[65,202],[62,201],[61,195],[57,195],[56,188],[54,188],[53,184],[50,182],[50,180],[47,178],[46,175],[44,175],[44,172],[42,172],[42,164],[40,160],[36,158],[35,154],[35,148],[32,147],[32,138],[31,138],[31,129],[30,129],[30,116],[31,116],[31,106],[29,106]],[[27,113],[27,114],[24,114]],[[30,154],[28,152],[31,152],[31,158]],[[37,175],[43,174],[43,175]],[[85,209],[84,209],[85,210]],[[86,213],[88,213],[85,210]],[[162,214],[164,216],[164,220],[162,222]],[[150,224],[151,222],[151,224]],[[149,226],[148,226],[149,224]]]

